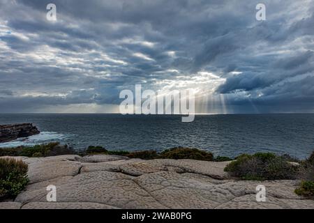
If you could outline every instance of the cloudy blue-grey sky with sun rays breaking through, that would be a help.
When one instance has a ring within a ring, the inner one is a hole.
[[[0,113],[119,112],[135,84],[193,89],[196,113],[313,113],[314,1],[0,1]]]

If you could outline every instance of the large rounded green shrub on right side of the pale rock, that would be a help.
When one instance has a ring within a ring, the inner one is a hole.
[[[255,153],[240,155],[225,171],[243,180],[281,180],[297,178],[299,167],[273,153]]]

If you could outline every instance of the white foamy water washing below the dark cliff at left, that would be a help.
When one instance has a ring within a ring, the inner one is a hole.
[[[40,134],[35,134],[31,137],[19,138],[13,141],[5,142],[0,144],[0,148],[10,148],[17,146],[35,146],[38,144],[45,144],[50,141],[59,141],[61,139],[66,139],[68,135],[59,134],[57,132],[40,132]]]

